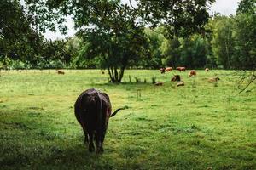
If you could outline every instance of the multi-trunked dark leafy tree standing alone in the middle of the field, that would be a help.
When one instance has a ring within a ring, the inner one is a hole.
[[[111,82],[121,82],[125,68],[136,65],[146,54],[147,38],[143,26],[127,5],[116,5],[108,22],[96,21],[95,27],[79,31],[87,44],[84,56],[98,59],[102,68],[108,69]]]

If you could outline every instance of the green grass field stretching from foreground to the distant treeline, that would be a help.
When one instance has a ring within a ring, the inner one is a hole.
[[[125,71],[112,84],[99,70],[2,71],[0,169],[256,169],[256,92],[236,96],[232,71],[182,72],[178,88],[172,73]],[[88,152],[73,113],[87,88],[113,110],[129,106],[109,120],[102,155]]]

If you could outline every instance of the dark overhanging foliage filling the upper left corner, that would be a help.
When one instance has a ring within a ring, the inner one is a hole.
[[[32,14],[18,0],[0,3],[0,62],[3,67],[9,59],[26,65],[44,68],[50,60],[68,63],[70,56],[64,41],[48,41],[34,26]],[[30,67],[30,66],[26,66]]]

